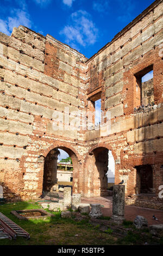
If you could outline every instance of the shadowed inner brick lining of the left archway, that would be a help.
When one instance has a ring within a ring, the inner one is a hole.
[[[78,173],[78,157],[70,148],[56,147],[51,149],[44,160],[43,182],[42,182],[43,192],[53,191],[53,189],[55,189],[56,184],[58,184],[57,163],[58,163],[58,157],[60,155],[60,149],[64,150],[72,160],[73,176],[76,176]],[[73,184],[72,184],[72,187],[73,187]]]

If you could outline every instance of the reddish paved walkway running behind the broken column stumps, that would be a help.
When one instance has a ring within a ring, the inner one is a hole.
[[[112,197],[90,197],[82,198],[82,203],[101,204],[103,216],[112,216]],[[163,224],[163,211],[138,206],[125,205],[124,217],[127,221],[134,221],[137,215],[141,215],[148,220],[148,225]],[[158,221],[153,220],[153,214],[158,218]]]

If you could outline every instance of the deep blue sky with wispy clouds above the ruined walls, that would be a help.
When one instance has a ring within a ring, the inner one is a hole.
[[[90,58],[153,0],[0,0],[0,31],[24,25]]]

